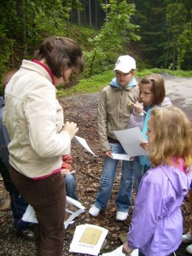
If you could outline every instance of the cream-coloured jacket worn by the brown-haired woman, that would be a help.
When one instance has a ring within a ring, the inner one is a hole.
[[[9,133],[9,162],[26,177],[44,177],[61,167],[71,139],[63,126],[49,73],[37,63],[23,61],[5,90],[3,124]]]

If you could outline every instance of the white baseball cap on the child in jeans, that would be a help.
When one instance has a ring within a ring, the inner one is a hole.
[[[122,73],[129,73],[131,69],[136,69],[136,61],[130,55],[119,56],[113,71],[119,70]]]

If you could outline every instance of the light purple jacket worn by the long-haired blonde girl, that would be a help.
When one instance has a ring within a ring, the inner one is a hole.
[[[177,250],[183,234],[180,206],[192,174],[174,166],[151,168],[143,176],[127,234],[130,247],[147,256],[166,256]]]

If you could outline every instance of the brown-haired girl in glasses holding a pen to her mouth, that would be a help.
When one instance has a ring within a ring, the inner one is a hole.
[[[134,104],[131,121],[128,127],[133,128],[139,126],[145,138],[145,142],[143,142],[141,146],[145,150],[148,150],[148,136],[146,135],[146,131],[151,109],[155,106],[166,107],[167,105],[172,105],[172,103],[166,98],[165,81],[160,74],[152,73],[141,79],[138,85],[139,102]],[[150,162],[147,156],[141,155],[135,158],[136,193],[144,173],[147,172],[149,168]]]

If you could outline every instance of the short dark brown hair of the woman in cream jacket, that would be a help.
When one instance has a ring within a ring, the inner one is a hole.
[[[40,45],[34,58],[44,59],[56,78],[61,78],[63,68],[73,67],[75,73],[84,70],[84,57],[79,45],[71,38],[50,37]]]

